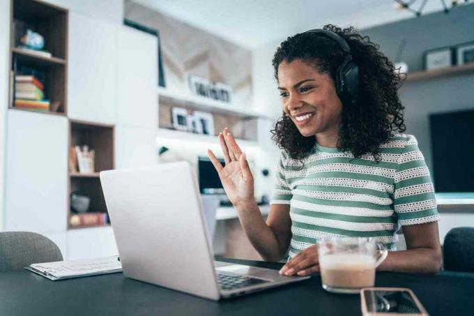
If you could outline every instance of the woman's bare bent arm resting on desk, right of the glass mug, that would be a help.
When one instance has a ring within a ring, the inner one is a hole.
[[[379,271],[437,273],[441,269],[438,223],[403,226],[406,249],[390,251]]]

